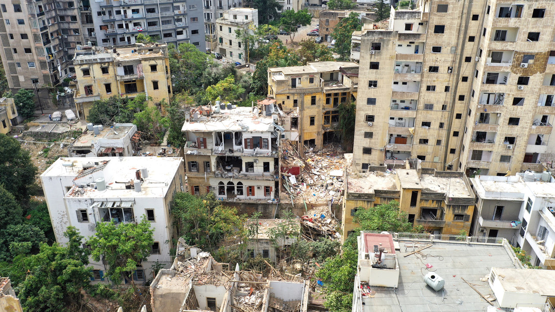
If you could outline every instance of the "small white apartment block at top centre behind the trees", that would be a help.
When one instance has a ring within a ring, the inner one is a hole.
[[[218,49],[216,50],[232,62],[245,63],[244,42],[237,37],[236,30],[245,30],[250,34],[258,27],[258,10],[251,8],[233,8],[223,13],[216,20],[216,37]]]

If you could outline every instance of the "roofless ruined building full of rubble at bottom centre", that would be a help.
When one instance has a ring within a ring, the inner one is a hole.
[[[150,284],[153,312],[306,312],[309,281],[286,280],[273,270],[268,278],[258,272],[230,270],[210,253],[178,241],[177,257]]]

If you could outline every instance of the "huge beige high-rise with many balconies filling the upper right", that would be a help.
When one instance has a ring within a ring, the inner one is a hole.
[[[539,170],[555,114],[550,4],[402,1],[355,32],[354,170],[406,158],[467,173]]]

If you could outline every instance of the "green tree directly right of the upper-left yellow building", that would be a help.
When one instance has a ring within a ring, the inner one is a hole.
[[[181,43],[178,48],[170,45],[168,54],[174,93],[196,94],[202,90],[201,77],[206,68],[214,66],[213,58],[190,43]]]

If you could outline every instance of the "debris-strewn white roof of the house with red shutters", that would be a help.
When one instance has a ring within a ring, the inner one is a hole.
[[[202,114],[198,114],[186,120],[181,127],[183,132],[214,132],[214,131],[249,131],[249,132],[269,132],[274,131],[273,119],[271,116],[263,114],[255,115],[252,108],[236,107],[233,109],[221,109],[216,112],[214,107],[206,108]],[[194,115],[193,114],[193,115]]]

